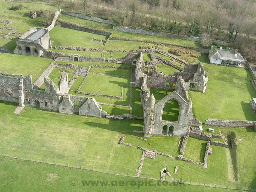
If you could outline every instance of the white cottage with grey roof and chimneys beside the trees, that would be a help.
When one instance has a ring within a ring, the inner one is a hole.
[[[210,59],[210,63],[214,64],[222,64],[222,65],[233,65],[236,67],[244,67],[245,60],[243,56],[238,53],[237,49],[235,51],[226,51],[215,49],[213,50],[213,46],[209,51],[208,55]]]

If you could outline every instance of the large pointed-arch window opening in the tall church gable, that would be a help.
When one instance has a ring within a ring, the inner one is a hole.
[[[163,109],[162,120],[178,121],[180,114],[179,103],[175,99],[168,100]]]

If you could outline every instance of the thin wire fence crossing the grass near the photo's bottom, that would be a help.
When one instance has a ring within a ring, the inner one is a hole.
[[[87,170],[87,171],[94,171],[94,172],[101,172],[105,174],[111,174],[111,175],[118,175],[118,176],[125,176],[125,177],[132,177],[132,178],[140,178],[140,179],[147,179],[147,180],[156,180],[156,181],[162,181],[160,179],[156,178],[149,178],[149,177],[137,177],[135,175],[130,175],[127,173],[120,173],[120,172],[113,172],[109,170],[103,170],[103,169],[97,169],[95,167],[87,167],[84,165],[73,165],[73,164],[63,164],[59,162],[50,162],[46,161],[45,159],[43,160],[35,160],[30,158],[22,158],[20,156],[10,156],[9,154],[3,155],[0,154],[2,157],[6,158],[12,158],[12,159],[19,159],[23,161],[29,161],[29,162],[36,162],[36,163],[41,163],[41,164],[49,164],[49,165],[56,165],[60,167],[68,167],[68,168],[73,168],[73,169],[82,169],[82,170]],[[202,187],[212,187],[212,188],[225,188],[225,189],[235,189],[235,190],[243,190],[243,191],[256,191],[256,188],[254,187],[249,187],[249,186],[237,186],[237,185],[232,185],[232,184],[220,184],[220,183],[199,183],[195,181],[182,181],[182,180],[172,180],[172,181],[165,181],[169,183],[175,183],[175,184],[186,184],[186,185],[194,185],[194,186],[202,186]]]

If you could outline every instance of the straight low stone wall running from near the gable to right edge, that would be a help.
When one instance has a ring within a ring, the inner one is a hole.
[[[222,120],[222,119],[206,119],[206,126],[213,127],[253,127],[256,121],[246,120]]]

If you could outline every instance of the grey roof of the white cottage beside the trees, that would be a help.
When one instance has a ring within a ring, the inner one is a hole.
[[[243,56],[238,52],[237,52],[237,56],[235,56],[234,51],[215,49],[214,51],[210,52],[210,58],[245,63]]]

